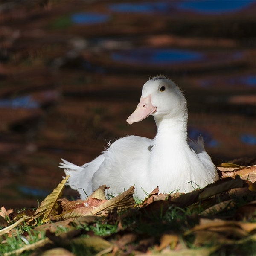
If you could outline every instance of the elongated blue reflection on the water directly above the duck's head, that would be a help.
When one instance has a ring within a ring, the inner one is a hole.
[[[113,61],[140,64],[174,64],[203,60],[204,55],[180,49],[133,49],[111,54]]]

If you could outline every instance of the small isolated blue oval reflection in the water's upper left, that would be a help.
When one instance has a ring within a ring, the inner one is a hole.
[[[79,12],[71,15],[74,24],[96,24],[108,21],[109,15],[96,12]]]

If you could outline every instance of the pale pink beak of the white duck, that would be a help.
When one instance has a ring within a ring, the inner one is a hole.
[[[140,122],[152,113],[156,112],[156,110],[157,107],[153,106],[151,103],[151,94],[148,95],[146,98],[141,97],[140,103],[138,104],[134,113],[132,113],[131,116],[128,117],[126,122],[128,122],[129,125],[133,124],[134,122]]]

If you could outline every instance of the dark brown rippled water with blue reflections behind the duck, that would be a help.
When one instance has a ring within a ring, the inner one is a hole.
[[[0,206],[37,207],[125,135],[143,84],[164,74],[212,157],[256,155],[255,0],[0,0]],[[76,193],[64,189],[64,196]]]

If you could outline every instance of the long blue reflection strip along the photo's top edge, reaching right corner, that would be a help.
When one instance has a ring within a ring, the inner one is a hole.
[[[183,0],[183,1],[155,1],[141,3],[116,3],[109,9],[114,12],[139,12],[151,14],[156,12],[169,13],[170,11],[193,11],[201,14],[221,14],[237,12],[255,3],[255,0]]]

